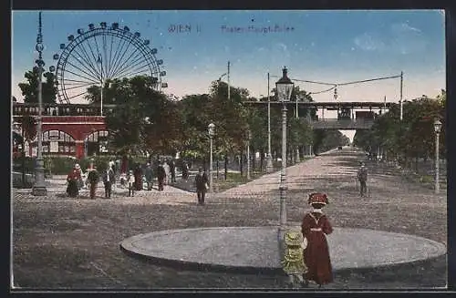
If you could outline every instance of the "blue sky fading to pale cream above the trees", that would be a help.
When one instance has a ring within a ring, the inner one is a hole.
[[[68,46],[67,36],[77,38],[79,28],[88,32],[88,24],[99,27],[101,22],[106,22],[109,27],[119,23],[121,28],[128,26],[131,33],[139,32],[142,44],[149,40],[147,47],[157,49],[155,58],[163,62],[160,71],[166,71],[161,79],[168,84],[163,91],[179,98],[208,93],[211,82],[227,72],[228,61],[230,84],[247,88],[256,98],[267,95],[267,73],[271,75],[273,88],[284,66],[290,78],[335,84],[399,76],[402,71],[404,99],[421,95],[432,98],[440,94],[440,89],[446,89],[445,26],[441,10],[43,11],[42,17],[46,68],[57,67],[53,56],[61,56],[60,44]],[[37,11],[13,11],[12,94],[19,101],[23,96],[17,84],[25,81],[24,73],[34,67],[37,58],[37,20]],[[79,39],[83,40],[82,37]],[[102,50],[98,50],[101,53],[98,55],[95,49],[91,66],[96,68],[96,62],[104,61],[107,75],[128,76],[129,70],[122,72],[119,68],[134,64],[132,61],[137,61],[135,55],[140,51],[135,52],[134,46],[121,47],[122,39],[117,37],[105,38],[105,45],[114,50],[103,56]],[[95,39],[89,37],[80,45],[88,51],[95,48]],[[98,36],[99,45],[102,40]],[[109,56],[114,61],[116,56],[112,53],[116,50],[118,69],[112,67],[109,71]],[[90,72],[88,68],[92,68],[89,63],[85,73],[78,70],[83,67],[75,68],[83,57],[82,47],[75,47],[67,59],[64,77],[68,98],[80,94],[78,88],[85,90],[85,86],[74,86],[82,84],[75,81],[89,78],[86,75]],[[144,61],[138,57],[140,63]],[[122,58],[124,65],[120,62]],[[156,71],[157,68],[148,67],[154,63],[144,62],[138,72]],[[93,68],[92,74],[96,73]],[[227,77],[222,79],[226,81]],[[308,92],[328,88],[298,81],[295,85]],[[399,86],[399,78],[340,86],[337,100],[386,98],[398,102]],[[73,89],[69,90],[70,87]],[[313,98],[334,101],[333,95],[333,91],[323,92]],[[71,98],[70,102],[83,102],[82,96]]]

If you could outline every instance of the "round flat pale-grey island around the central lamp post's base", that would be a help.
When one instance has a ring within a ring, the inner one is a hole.
[[[292,228],[300,231],[299,227]],[[416,262],[446,253],[422,237],[366,229],[335,228],[327,237],[331,262],[340,269]],[[155,231],[120,243],[124,252],[189,269],[280,272],[277,227],[218,227]]]

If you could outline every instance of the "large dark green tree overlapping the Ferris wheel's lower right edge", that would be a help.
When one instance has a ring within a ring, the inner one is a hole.
[[[96,103],[96,91],[88,88],[88,100]],[[173,154],[181,139],[177,104],[150,86],[150,77],[138,76],[113,82],[104,90],[115,102],[106,118],[110,146],[120,152]],[[104,100],[104,98],[103,98]]]

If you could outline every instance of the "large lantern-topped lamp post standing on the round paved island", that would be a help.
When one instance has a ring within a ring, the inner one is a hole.
[[[293,82],[286,76],[287,69],[284,67],[282,70],[283,76],[275,83],[277,90],[277,98],[282,101],[282,170],[280,171],[280,214],[279,214],[279,229],[278,239],[279,243],[283,242],[285,225],[286,225],[286,102],[290,101],[291,93],[293,91]],[[279,246],[283,250],[283,245]]]

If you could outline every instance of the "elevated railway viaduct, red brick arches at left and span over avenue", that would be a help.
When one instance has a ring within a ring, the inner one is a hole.
[[[267,105],[265,101],[245,101],[245,105]],[[316,108],[322,111],[321,118],[309,119],[314,129],[368,129],[377,117],[376,111],[390,108],[385,102],[298,102],[299,108]],[[281,102],[271,101],[271,108],[279,108]],[[287,102],[288,108],[296,108],[295,102]],[[112,110],[114,105],[103,105],[103,110]],[[355,111],[355,109],[362,109]],[[325,110],[337,110],[337,118],[325,118]],[[105,118],[99,116],[100,107],[88,104],[43,104],[42,131],[45,155],[74,156],[78,159],[93,154],[107,153],[106,142],[109,130]],[[37,104],[13,103],[13,131],[16,139],[23,135],[21,118],[36,117]],[[14,139],[15,140],[15,139]],[[25,144],[27,156],[36,156],[36,138]],[[17,151],[16,142],[16,151]],[[15,149],[15,142],[14,149]],[[22,144],[21,144],[22,145]]]

